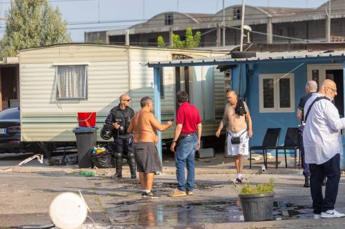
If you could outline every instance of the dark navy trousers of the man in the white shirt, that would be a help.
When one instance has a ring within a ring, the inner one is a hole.
[[[311,197],[314,214],[333,210],[340,180],[340,155],[337,153],[324,164],[309,164],[311,170]],[[322,195],[322,180],[327,177],[325,197]]]

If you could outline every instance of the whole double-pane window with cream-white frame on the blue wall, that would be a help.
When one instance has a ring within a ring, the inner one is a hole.
[[[259,111],[295,112],[293,74],[259,75]]]

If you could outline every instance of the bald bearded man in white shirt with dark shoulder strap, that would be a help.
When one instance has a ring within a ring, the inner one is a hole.
[[[343,151],[340,130],[345,127],[345,118],[339,117],[339,111],[331,102],[336,95],[337,85],[332,80],[324,80],[318,93],[313,94],[304,106],[306,126],[303,142],[306,163],[311,171],[315,219],[345,217],[334,209],[340,179],[340,154]],[[323,197],[321,184],[325,175],[327,183]]]

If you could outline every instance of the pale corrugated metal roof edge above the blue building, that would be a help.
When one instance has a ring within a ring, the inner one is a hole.
[[[332,56],[344,56],[344,51],[325,52],[314,51],[308,52],[307,50],[295,51],[295,52],[257,52],[256,57],[251,58],[231,58],[231,55],[208,57],[208,58],[190,58],[185,60],[176,61],[156,61],[146,63],[148,67],[154,67],[154,65],[179,65],[179,64],[207,64],[218,65],[222,62],[244,63],[251,61],[269,61],[269,60],[281,60],[281,59],[298,59],[298,58],[318,58],[318,57],[332,57]]]

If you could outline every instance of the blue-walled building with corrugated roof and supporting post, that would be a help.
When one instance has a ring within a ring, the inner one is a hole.
[[[229,54],[213,58],[148,63],[148,67],[155,69],[155,113],[160,117],[157,98],[161,67],[217,66],[224,72],[224,88],[227,87],[226,84],[230,84],[229,87],[235,89],[248,104],[254,132],[250,145],[260,145],[266,129],[274,127],[282,128],[279,138],[279,145],[282,145],[288,127],[298,125],[297,106],[299,98],[306,94],[305,85],[308,80],[313,79],[318,84],[326,78],[334,80],[338,91],[335,106],[340,116],[344,116],[344,54],[344,47],[328,50],[322,46],[319,50],[261,51],[255,57],[248,58],[232,58]],[[221,117],[217,117],[220,121]]]

